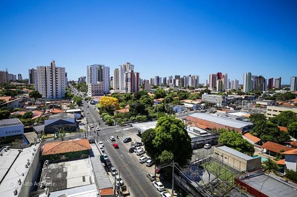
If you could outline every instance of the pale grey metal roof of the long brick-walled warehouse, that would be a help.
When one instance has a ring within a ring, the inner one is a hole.
[[[224,117],[218,117],[215,115],[204,114],[204,113],[195,113],[195,114],[192,114],[189,116],[194,117],[194,118],[204,119],[207,121],[215,122],[215,123],[226,125],[226,126],[231,126],[234,128],[243,128],[245,126],[252,125],[251,122],[235,120],[235,119],[230,119],[230,118],[224,118]]]

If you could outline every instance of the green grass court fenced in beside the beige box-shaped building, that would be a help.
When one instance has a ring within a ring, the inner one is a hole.
[[[203,164],[203,167],[206,168],[214,176],[219,176],[219,178],[226,182],[234,182],[235,175],[228,168],[223,165],[220,165],[217,162],[209,162]]]

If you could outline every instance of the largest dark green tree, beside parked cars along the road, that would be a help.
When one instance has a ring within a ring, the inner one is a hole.
[[[191,138],[185,124],[171,116],[159,118],[154,129],[142,134],[142,141],[148,155],[157,163],[167,162],[173,156],[183,166],[192,157]]]

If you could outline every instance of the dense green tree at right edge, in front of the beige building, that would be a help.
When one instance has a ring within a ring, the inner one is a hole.
[[[292,111],[283,111],[269,120],[279,126],[288,127],[291,123],[297,122],[297,114]]]

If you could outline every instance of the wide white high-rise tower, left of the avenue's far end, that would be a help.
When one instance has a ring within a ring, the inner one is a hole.
[[[38,66],[37,85],[35,88],[46,99],[64,97],[66,92],[65,68],[56,67],[55,61],[51,61],[49,66]]]

